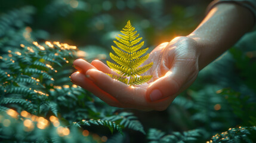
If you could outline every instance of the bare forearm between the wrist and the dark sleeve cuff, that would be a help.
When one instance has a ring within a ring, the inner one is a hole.
[[[221,3],[212,8],[202,23],[187,36],[199,45],[199,70],[252,29],[253,23],[252,13],[235,3]]]

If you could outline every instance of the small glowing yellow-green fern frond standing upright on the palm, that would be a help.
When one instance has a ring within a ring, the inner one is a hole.
[[[107,65],[116,71],[118,75],[108,74],[113,79],[126,83],[127,85],[140,85],[148,82],[152,76],[140,76],[140,74],[149,70],[153,66],[153,62],[139,67],[144,61],[149,58],[149,54],[145,54],[147,49],[140,49],[144,45],[144,41],[140,42],[142,38],[138,38],[137,31],[131,26],[131,22],[128,21],[127,25],[121,31],[124,35],[118,35],[116,37],[118,41],[114,41],[116,44],[112,46],[116,55],[110,52],[110,58],[112,58],[117,64],[113,64],[107,61]]]

